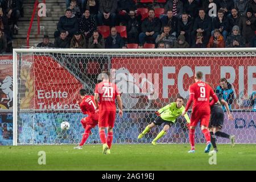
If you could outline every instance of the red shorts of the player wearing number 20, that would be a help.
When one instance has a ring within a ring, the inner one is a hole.
[[[98,117],[98,127],[114,127],[115,111],[100,111]]]

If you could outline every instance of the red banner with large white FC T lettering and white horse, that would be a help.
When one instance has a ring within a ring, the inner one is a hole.
[[[247,98],[256,90],[255,57],[116,57],[112,59],[112,68],[115,82],[128,102],[127,109],[137,107],[132,102],[142,96],[153,107],[179,95],[188,98],[188,87],[197,71],[202,71],[204,81],[214,88],[220,84],[220,78],[227,78],[237,99]],[[127,85],[123,86],[125,82]]]

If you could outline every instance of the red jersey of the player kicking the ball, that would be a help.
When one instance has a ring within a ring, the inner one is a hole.
[[[96,110],[96,104],[94,102],[94,96],[85,96],[81,103],[80,103],[80,109],[82,111],[82,114],[88,114],[89,116],[93,115]]]

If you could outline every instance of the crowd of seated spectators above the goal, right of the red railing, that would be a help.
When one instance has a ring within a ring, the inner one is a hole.
[[[127,44],[139,48],[145,44],[154,44],[153,48],[256,47],[256,0],[65,3],[67,10],[54,32],[55,48],[126,48]],[[102,26],[108,30],[102,31]]]

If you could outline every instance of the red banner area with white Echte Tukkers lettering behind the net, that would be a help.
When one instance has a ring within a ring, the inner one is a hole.
[[[79,109],[79,90],[82,84],[67,69],[50,56],[36,56],[32,64],[34,76],[35,109]],[[26,79],[28,85],[30,80]],[[28,101],[28,100],[27,100]]]

